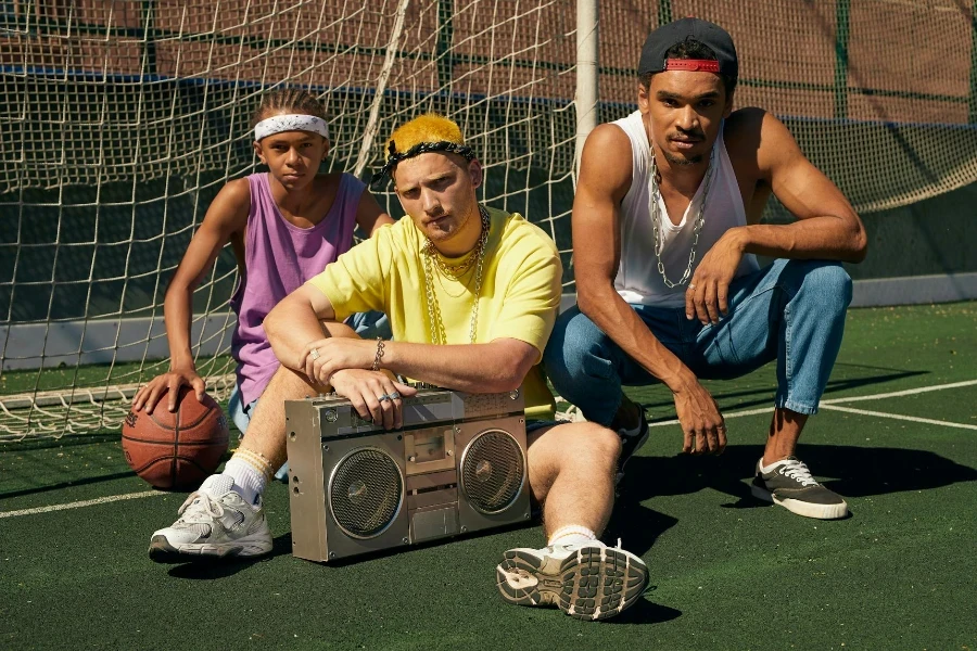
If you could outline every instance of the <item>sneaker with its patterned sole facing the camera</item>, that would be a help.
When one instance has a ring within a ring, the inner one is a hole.
[[[634,604],[648,585],[644,561],[599,540],[510,549],[495,569],[502,598],[517,605],[557,605],[578,620],[606,620]]]

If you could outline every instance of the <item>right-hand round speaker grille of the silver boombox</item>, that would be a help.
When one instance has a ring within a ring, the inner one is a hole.
[[[486,430],[475,436],[461,460],[461,489],[480,513],[506,510],[522,489],[525,460],[508,432]]]

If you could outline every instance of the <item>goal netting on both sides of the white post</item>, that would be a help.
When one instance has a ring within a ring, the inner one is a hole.
[[[634,110],[647,31],[701,16],[737,42],[737,105],[781,116],[859,210],[916,202],[977,179],[966,4],[605,2],[600,119]],[[117,429],[166,370],[166,283],[220,187],[258,169],[266,89],[318,94],[327,166],[361,178],[399,122],[455,118],[487,166],[482,199],[553,235],[572,292],[575,15],[574,0],[0,3],[0,441]],[[194,295],[218,398],[234,281],[226,251]]]

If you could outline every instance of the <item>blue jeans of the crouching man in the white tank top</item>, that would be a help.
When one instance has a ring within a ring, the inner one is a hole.
[[[697,378],[728,380],[776,360],[776,406],[816,413],[841,347],[851,278],[838,263],[778,259],[735,279],[729,296],[728,314],[708,326],[686,319],[684,307],[631,307]],[[557,318],[543,363],[557,392],[604,425],[622,385],[658,382],[575,306]]]

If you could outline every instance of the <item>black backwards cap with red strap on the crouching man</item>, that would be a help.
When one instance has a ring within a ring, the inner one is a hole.
[[[707,46],[715,54],[716,61],[698,59],[668,59],[665,53],[678,43],[696,40]],[[644,77],[665,71],[702,71],[719,73],[736,79],[739,76],[739,60],[729,33],[709,21],[682,18],[662,25],[645,39],[642,59],[638,61],[638,76]]]

